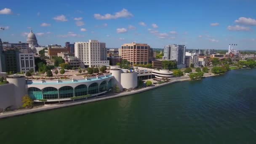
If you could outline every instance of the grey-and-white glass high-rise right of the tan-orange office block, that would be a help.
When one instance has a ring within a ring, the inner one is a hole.
[[[185,45],[166,45],[164,48],[163,59],[176,61],[178,68],[186,67],[186,46]]]

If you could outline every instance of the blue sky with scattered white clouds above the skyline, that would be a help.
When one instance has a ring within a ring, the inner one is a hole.
[[[152,48],[256,50],[256,0],[4,0],[0,38],[39,45],[99,40],[107,48],[147,43]]]

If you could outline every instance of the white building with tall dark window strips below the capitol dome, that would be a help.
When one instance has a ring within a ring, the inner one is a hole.
[[[35,57],[34,53],[19,53],[19,67],[20,72],[29,72],[34,69],[35,72]]]

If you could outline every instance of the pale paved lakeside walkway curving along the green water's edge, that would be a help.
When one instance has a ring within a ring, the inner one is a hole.
[[[203,78],[213,77],[213,76],[217,76],[217,75],[214,75],[214,74],[206,75]],[[172,83],[190,81],[190,80],[191,79],[189,77],[187,77],[187,78],[184,78],[184,79],[172,80],[168,83],[162,83],[162,84],[158,84],[158,85],[151,86],[151,87],[141,88],[141,89],[138,89],[138,90],[125,91],[125,92],[122,92],[122,93],[119,93],[119,94],[116,94],[116,95],[112,95],[112,96],[104,96],[104,97],[99,97],[99,98],[89,99],[89,100],[82,100],[82,101],[77,101],[77,102],[67,102],[66,104],[52,104],[52,105],[45,104],[43,107],[17,110],[17,111],[13,111],[13,112],[5,112],[5,113],[0,114],[0,119],[20,116],[20,115],[27,115],[27,114],[36,113],[36,112],[43,112],[43,111],[48,111],[48,110],[51,110],[51,109],[59,109],[59,108],[63,108],[63,107],[72,107],[72,106],[79,105],[79,104],[86,104],[86,103],[95,102],[95,101],[113,99],[113,98],[122,97],[122,96],[129,96],[129,95],[133,95],[133,94],[136,94],[136,93],[142,93],[144,91],[149,91],[149,90],[152,90],[152,89],[155,89],[155,88],[159,88],[159,87],[162,87],[162,86],[165,86],[165,85],[169,85],[169,84],[172,84]],[[196,79],[196,80],[200,80],[200,79]]]

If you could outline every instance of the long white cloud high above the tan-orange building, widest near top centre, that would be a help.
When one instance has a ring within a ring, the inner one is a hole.
[[[99,13],[95,13],[94,14],[94,18],[95,19],[118,19],[118,18],[128,18],[128,17],[132,17],[133,14],[131,14],[130,12],[128,12],[125,8],[122,11],[116,12],[115,15],[111,15],[109,13],[105,14],[104,16],[99,14]]]

